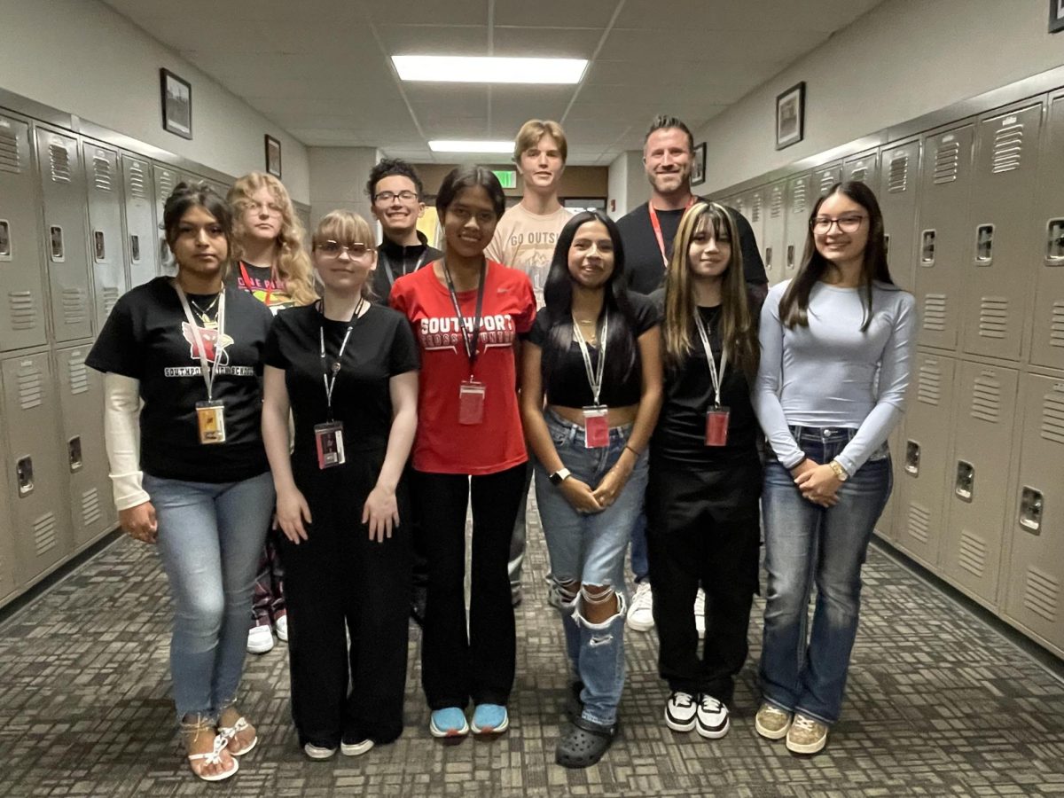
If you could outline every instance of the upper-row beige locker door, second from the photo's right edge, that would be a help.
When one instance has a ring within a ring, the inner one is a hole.
[[[979,121],[962,280],[963,346],[971,354],[1019,359],[1042,248],[1032,213],[1041,129],[1041,102]]]

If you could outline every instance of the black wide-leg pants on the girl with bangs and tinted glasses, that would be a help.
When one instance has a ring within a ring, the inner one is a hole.
[[[389,743],[402,733],[410,614],[410,517],[400,483],[400,526],[369,541],[362,506],[384,452],[349,452],[336,468],[296,471],[314,522],[281,544],[288,602],[292,715],[305,743]],[[363,462],[368,461],[368,462]],[[346,635],[351,638],[350,649]]]

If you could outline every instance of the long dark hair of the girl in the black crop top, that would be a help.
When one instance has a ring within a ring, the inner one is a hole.
[[[605,345],[610,358],[605,362],[603,380],[617,384],[628,379],[638,364],[638,347],[635,343],[635,313],[628,300],[625,288],[625,247],[620,243],[617,225],[600,211],[583,211],[569,219],[558,235],[554,256],[543,287],[546,303],[544,312],[550,321],[549,333],[543,348],[543,379],[548,381],[558,361],[569,351],[572,343],[572,277],[569,275],[569,248],[581,226],[588,221],[600,221],[613,242],[613,272],[606,280],[602,298],[602,312],[609,319],[610,330]]]

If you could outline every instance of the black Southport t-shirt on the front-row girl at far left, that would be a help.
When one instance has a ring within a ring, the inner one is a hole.
[[[206,309],[213,296],[189,299]],[[215,311],[217,306],[215,306]],[[209,312],[214,318],[214,312]],[[100,331],[86,363],[97,371],[140,382],[140,468],[163,479],[237,482],[269,468],[259,429],[262,416],[262,354],[272,316],[244,290],[226,286],[226,344],[213,398],[225,405],[226,440],[201,444],[196,402],[206,385],[199,354],[178,293],[156,277],[123,295]],[[207,361],[215,330],[200,328]]]

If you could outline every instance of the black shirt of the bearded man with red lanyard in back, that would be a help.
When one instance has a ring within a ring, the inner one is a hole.
[[[672,242],[676,231],[680,228],[680,218],[684,209],[676,211],[656,211],[658,220],[662,226],[662,239],[665,242],[665,255],[671,257]],[[765,276],[765,264],[758,250],[758,239],[753,235],[750,222],[738,211],[729,207],[728,212],[735,220],[738,231],[739,247],[743,251],[743,275],[748,285],[764,285],[768,283]],[[644,202],[631,213],[617,221],[620,240],[625,245],[625,269],[628,272],[628,287],[637,294],[650,294],[665,279],[665,265],[662,263],[662,251],[658,247],[658,237],[650,225],[649,204]],[[762,295],[764,292],[762,292]]]

